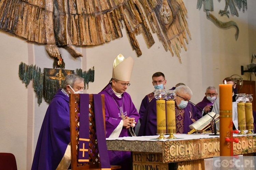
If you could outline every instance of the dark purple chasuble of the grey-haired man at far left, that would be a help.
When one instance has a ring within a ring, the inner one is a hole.
[[[47,108],[31,170],[56,169],[69,143],[69,97],[59,89]]]

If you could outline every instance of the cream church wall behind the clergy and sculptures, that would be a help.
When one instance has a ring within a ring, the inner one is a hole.
[[[256,1],[247,1],[248,9],[239,17],[230,16],[237,22],[240,30],[238,40],[234,38],[235,29],[221,29],[206,18],[206,13],[196,9],[197,1],[184,0],[188,11],[188,27],[191,40],[188,40],[187,51],[182,49],[182,64],[176,56],[166,52],[153,34],[155,44],[148,49],[142,35],[137,36],[142,56],[137,57],[132,51],[126,31],[123,37],[96,47],[78,48],[83,58],[74,59],[64,49],[60,52],[66,63],[66,69],[81,68],[85,71],[95,67],[95,82],[89,83],[89,94],[97,94],[111,79],[114,58],[122,53],[134,59],[131,86],[127,92],[131,95],[137,109],[145,95],[153,91],[152,74],[161,71],[166,75],[166,88],[179,82],[188,85],[194,95],[191,101],[202,100],[205,89],[222,83],[225,77],[232,74],[241,75],[240,66],[250,63],[252,53],[256,53]],[[214,14],[222,21],[218,11],[224,9],[225,1],[214,1]],[[187,36],[188,37],[188,36]],[[34,95],[32,84],[28,89],[19,80],[20,62],[35,64],[41,69],[52,68],[53,60],[45,52],[43,45],[33,45],[0,31],[1,50],[1,99],[0,99],[0,152],[11,152],[16,156],[19,170],[30,169],[35,145],[41,124],[47,109],[43,101],[40,107]],[[244,80],[250,80],[245,73]],[[255,76],[252,76],[255,80]]]

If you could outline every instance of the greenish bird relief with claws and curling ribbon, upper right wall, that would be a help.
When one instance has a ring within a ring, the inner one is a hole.
[[[221,0],[218,1],[220,2]],[[237,40],[239,36],[239,28],[237,23],[234,21],[222,22],[219,19],[217,19],[214,15],[212,15],[210,12],[213,11],[213,0],[197,0],[197,9],[201,8],[202,3],[204,3],[204,10],[207,14],[207,18],[213,21],[218,27],[228,28],[233,26],[236,28],[235,38]],[[230,12],[228,11],[228,7],[230,9]],[[219,14],[221,16],[226,15],[229,18],[229,14],[231,13],[232,15],[239,17],[237,7],[239,10],[243,8],[243,12],[245,11],[245,9],[247,10],[247,0],[225,0],[225,8],[224,10],[220,10]]]

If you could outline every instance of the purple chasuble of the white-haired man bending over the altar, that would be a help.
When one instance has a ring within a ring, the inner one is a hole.
[[[194,123],[191,119],[198,120],[202,117],[202,114],[193,104],[189,102],[187,107],[185,107],[183,110],[185,112],[183,133],[186,134],[190,131],[189,125]],[[153,136],[156,135],[156,133],[156,99],[152,99],[152,101],[148,104],[148,107],[146,108],[138,136]]]

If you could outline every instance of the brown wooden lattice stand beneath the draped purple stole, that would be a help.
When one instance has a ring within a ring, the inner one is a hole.
[[[80,94],[70,95],[70,135],[71,135],[71,168],[72,170],[81,169],[101,169],[100,157],[98,152],[97,137],[96,137],[96,124],[94,114],[94,102],[93,95],[89,95],[89,163],[80,164],[78,162],[78,146],[79,146],[79,105],[80,105]],[[102,112],[105,127],[105,107],[104,107],[104,95],[101,95],[102,101]],[[111,169],[120,169],[121,166],[111,165]]]

